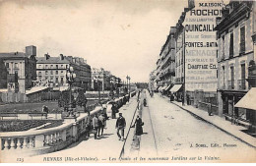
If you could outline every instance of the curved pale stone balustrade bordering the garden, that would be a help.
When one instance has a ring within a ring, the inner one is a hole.
[[[118,101],[123,101],[123,98],[118,98]],[[91,115],[102,110],[102,106],[96,106]],[[19,152],[19,156],[32,156],[63,149],[86,132],[87,117],[87,113],[81,113],[76,121],[65,120],[61,126],[50,129],[0,133],[0,153],[8,156]]]

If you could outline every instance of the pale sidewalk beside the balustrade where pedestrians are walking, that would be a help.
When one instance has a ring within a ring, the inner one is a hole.
[[[135,95],[130,99],[129,103],[126,103],[119,109],[119,112],[123,114],[123,117],[126,120],[126,129],[124,133],[125,137],[129,130],[136,107],[137,107],[137,99]],[[28,157],[26,158],[26,162],[32,162],[32,161],[42,162],[44,157],[63,157],[63,159],[64,157],[73,157],[73,158],[92,157],[92,158],[96,158],[97,162],[111,162],[111,161],[118,162],[119,161],[118,158],[122,150],[124,141],[119,140],[119,138],[117,137],[115,124],[116,124],[116,119],[110,119],[106,121],[107,129],[104,130],[104,135],[99,139],[95,139],[93,134],[91,134],[90,138],[85,138],[84,136],[80,138],[78,142],[73,143],[66,149],[48,153],[48,154]],[[133,133],[134,133],[134,129],[132,128],[125,145],[126,154],[130,151]],[[62,162],[65,162],[65,161],[62,161]],[[73,162],[95,162],[95,161],[77,160]]]

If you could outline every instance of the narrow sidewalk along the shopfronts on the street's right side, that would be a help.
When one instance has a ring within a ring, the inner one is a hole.
[[[157,95],[160,95],[159,93],[156,93]],[[170,102],[168,97],[161,97],[162,99],[166,100],[166,102]],[[224,131],[225,133],[231,135],[234,138],[238,138],[241,141],[256,147],[256,138],[253,138],[243,132],[241,130],[246,130],[246,128],[243,128],[241,126],[237,126],[234,124],[231,124],[231,122],[224,120],[223,117],[220,117],[218,115],[209,116],[207,111],[200,110],[198,108],[195,108],[191,105],[182,105],[181,102],[177,101],[171,101],[171,103],[177,105],[181,109],[193,114],[194,116],[198,116],[204,121],[214,125],[215,127],[219,128],[220,130]]]

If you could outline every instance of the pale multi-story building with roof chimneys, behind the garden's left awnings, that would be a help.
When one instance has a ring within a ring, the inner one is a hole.
[[[59,57],[37,57],[36,81],[49,83],[50,86],[68,86],[66,80],[67,69],[70,62],[62,54]]]

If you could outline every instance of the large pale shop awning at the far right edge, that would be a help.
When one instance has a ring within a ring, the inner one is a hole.
[[[256,87],[251,87],[251,89],[234,106],[256,110],[255,98],[256,98]]]

